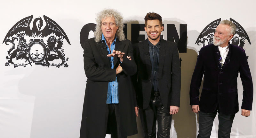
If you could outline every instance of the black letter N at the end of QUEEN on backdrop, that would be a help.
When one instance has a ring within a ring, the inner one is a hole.
[[[180,53],[187,52],[187,24],[180,24],[180,38],[174,24],[167,24],[167,40],[178,44]]]

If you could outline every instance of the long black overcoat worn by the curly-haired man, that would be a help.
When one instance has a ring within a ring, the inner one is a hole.
[[[134,110],[134,93],[131,87],[130,75],[137,71],[133,60],[131,41],[118,41],[116,39],[115,50],[124,52],[124,60],[120,64],[123,72],[116,75],[116,67],[119,65],[114,58],[114,69],[111,69],[110,60],[107,57],[106,44],[96,43],[94,38],[85,41],[84,71],[87,83],[84,96],[84,107],[81,122],[80,138],[105,138],[106,101],[108,82],[117,77],[119,119],[122,137],[137,133],[137,125]],[[126,58],[131,56],[132,60]],[[107,134],[108,128],[107,128]]]

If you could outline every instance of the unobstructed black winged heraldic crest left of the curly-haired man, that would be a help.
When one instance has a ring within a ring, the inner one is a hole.
[[[5,66],[10,66],[10,64],[12,64],[14,68],[18,66],[25,67],[28,64],[32,66],[33,62],[36,65],[48,67],[56,66],[60,68],[62,65],[68,67],[68,64],[66,63],[68,58],[65,58],[64,49],[62,48],[63,39],[66,39],[70,45],[66,33],[60,25],[45,15],[44,21],[46,25],[43,29],[43,19],[41,17],[38,17],[33,21],[32,29],[30,29],[29,25],[32,18],[33,16],[31,15],[21,19],[18,23],[13,25],[10,31],[6,34],[3,43],[6,45],[12,43],[12,46],[10,50],[7,51],[8,56],[6,56],[6,60],[8,61],[5,63]],[[44,42],[44,39],[46,38],[47,44]],[[18,42],[15,43],[15,40]],[[13,59],[15,59],[15,61]],[[25,62],[21,59],[25,59]],[[60,59],[58,60],[60,63],[53,63],[53,60],[57,59]],[[21,61],[23,61],[23,63],[20,63]]]

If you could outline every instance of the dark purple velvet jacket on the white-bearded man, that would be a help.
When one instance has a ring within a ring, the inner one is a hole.
[[[253,86],[247,57],[242,48],[229,44],[228,56],[219,67],[218,47],[201,48],[190,84],[190,105],[199,105],[200,111],[212,113],[217,109],[227,115],[238,112],[238,72],[244,88],[242,109],[252,110]],[[204,84],[199,100],[199,88]]]

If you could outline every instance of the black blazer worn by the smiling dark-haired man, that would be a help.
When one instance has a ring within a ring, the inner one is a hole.
[[[148,39],[133,45],[134,58],[138,74],[132,77],[139,107],[146,109],[149,105],[152,81]],[[159,93],[164,107],[180,107],[180,58],[176,43],[160,38],[158,62]]]

